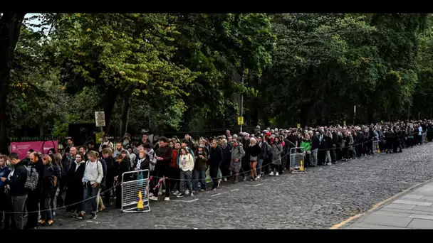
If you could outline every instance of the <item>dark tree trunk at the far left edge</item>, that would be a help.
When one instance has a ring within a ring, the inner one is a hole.
[[[0,18],[0,153],[8,153],[6,102],[11,84],[12,60],[25,15],[26,13],[3,13]]]

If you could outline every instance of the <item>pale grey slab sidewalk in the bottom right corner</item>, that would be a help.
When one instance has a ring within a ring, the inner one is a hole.
[[[367,212],[344,229],[433,229],[433,180],[377,210]]]

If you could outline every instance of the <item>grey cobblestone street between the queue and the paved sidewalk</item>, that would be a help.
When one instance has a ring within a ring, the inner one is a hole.
[[[194,197],[150,202],[151,212],[107,209],[95,220],[58,212],[50,229],[257,229],[329,228],[433,176],[433,143],[403,153],[380,154],[335,166],[308,168]],[[90,217],[86,215],[86,217]]]

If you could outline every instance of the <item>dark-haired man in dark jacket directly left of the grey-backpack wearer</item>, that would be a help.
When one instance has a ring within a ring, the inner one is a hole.
[[[17,153],[9,154],[9,161],[14,165],[14,171],[9,173],[8,178],[0,178],[1,182],[9,188],[12,204],[12,227],[14,229],[24,229],[23,214],[26,203],[28,189],[26,188],[27,168],[26,161],[20,161]],[[37,218],[36,218],[37,220]]]

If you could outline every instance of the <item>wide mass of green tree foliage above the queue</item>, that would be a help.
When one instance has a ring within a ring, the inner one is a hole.
[[[232,128],[240,95],[250,126],[405,119],[408,106],[412,118],[432,112],[429,14],[45,13],[41,21],[41,31],[21,28],[8,72],[10,134],[67,134],[66,124],[92,122],[97,110],[120,133]]]

